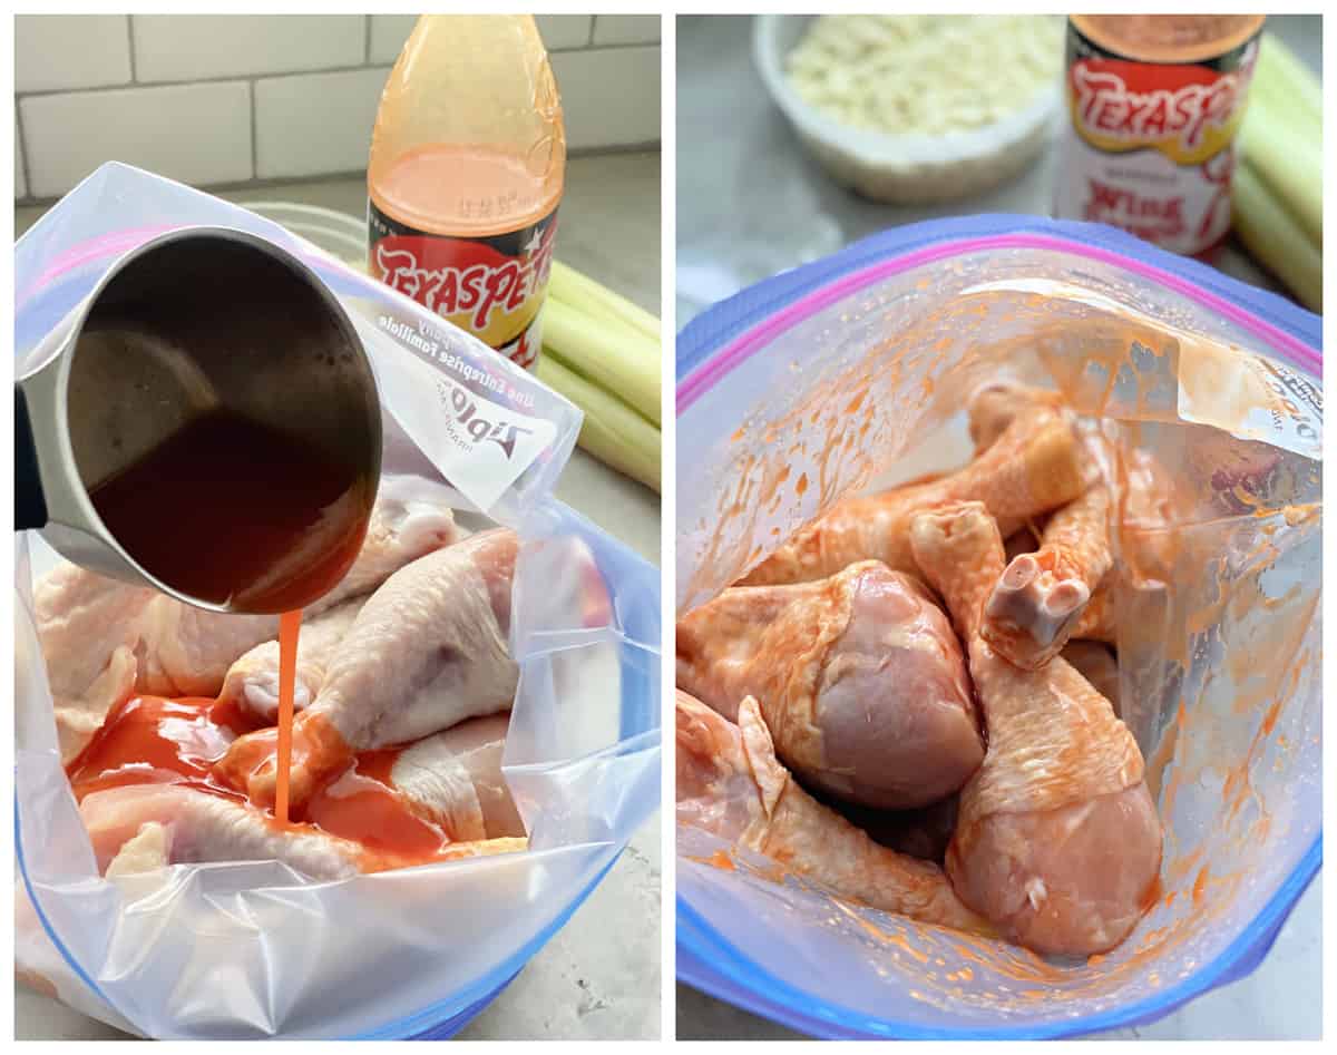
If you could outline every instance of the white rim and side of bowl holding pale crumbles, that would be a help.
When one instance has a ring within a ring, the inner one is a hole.
[[[800,142],[832,178],[865,198],[927,205],[979,194],[1034,163],[1058,127],[1058,83],[1025,110],[969,132],[890,135],[841,124],[800,96],[785,74],[810,17],[758,15],[753,62]]]

